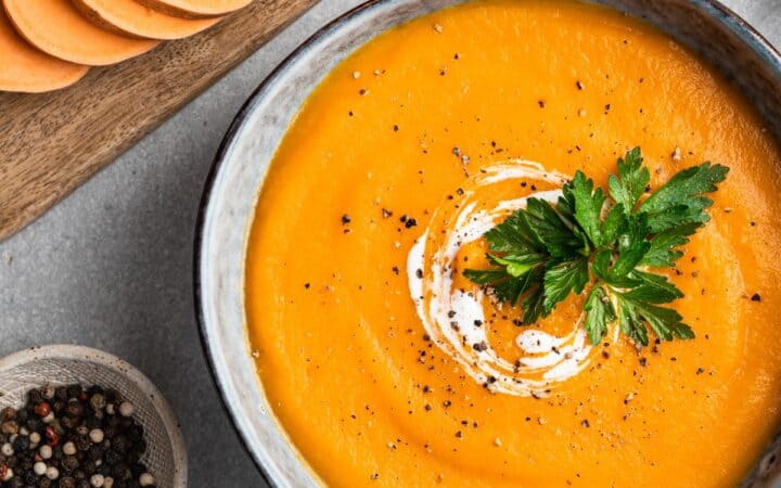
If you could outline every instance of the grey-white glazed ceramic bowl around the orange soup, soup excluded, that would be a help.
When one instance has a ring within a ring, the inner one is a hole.
[[[243,296],[246,241],[269,163],[299,106],[334,65],[387,28],[462,1],[374,0],[325,26],[249,98],[215,159],[195,244],[197,314],[226,407],[273,485],[300,487],[318,480],[273,419],[248,349]],[[596,3],[643,18],[701,53],[742,89],[781,139],[781,56],[734,13],[708,0]],[[780,447],[777,438],[743,486],[781,487]]]

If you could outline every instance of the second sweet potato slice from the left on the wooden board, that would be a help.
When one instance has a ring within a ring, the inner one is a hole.
[[[130,39],[92,25],[68,0],[2,0],[16,31],[41,51],[100,66],[143,54],[157,41]]]

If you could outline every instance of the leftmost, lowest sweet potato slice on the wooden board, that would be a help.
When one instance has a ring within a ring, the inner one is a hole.
[[[88,66],[42,53],[22,39],[0,9],[0,90],[39,93],[75,84]]]

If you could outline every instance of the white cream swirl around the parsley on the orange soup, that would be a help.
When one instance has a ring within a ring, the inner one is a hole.
[[[409,291],[431,339],[473,380],[495,393],[541,397],[554,384],[573,377],[588,365],[591,345],[586,339],[582,316],[573,323],[572,332],[563,336],[533,329],[523,331],[515,339],[522,356],[511,363],[499,357],[488,341],[490,325],[485,320],[482,290],[453,286],[453,265],[461,247],[482,237],[512,211],[525,207],[529,197],[553,202],[561,195],[560,190],[538,191],[522,198],[486,204],[492,187],[510,180],[559,187],[567,177],[520,159],[484,168],[468,181],[456,200],[447,201],[447,208],[454,208],[456,213],[448,215],[440,206],[410,249]],[[435,235],[437,239],[433,239]]]

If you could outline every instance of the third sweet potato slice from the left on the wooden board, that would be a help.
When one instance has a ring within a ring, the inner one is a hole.
[[[220,21],[181,18],[157,12],[135,0],[71,0],[94,25],[141,39],[181,39],[200,33]]]

